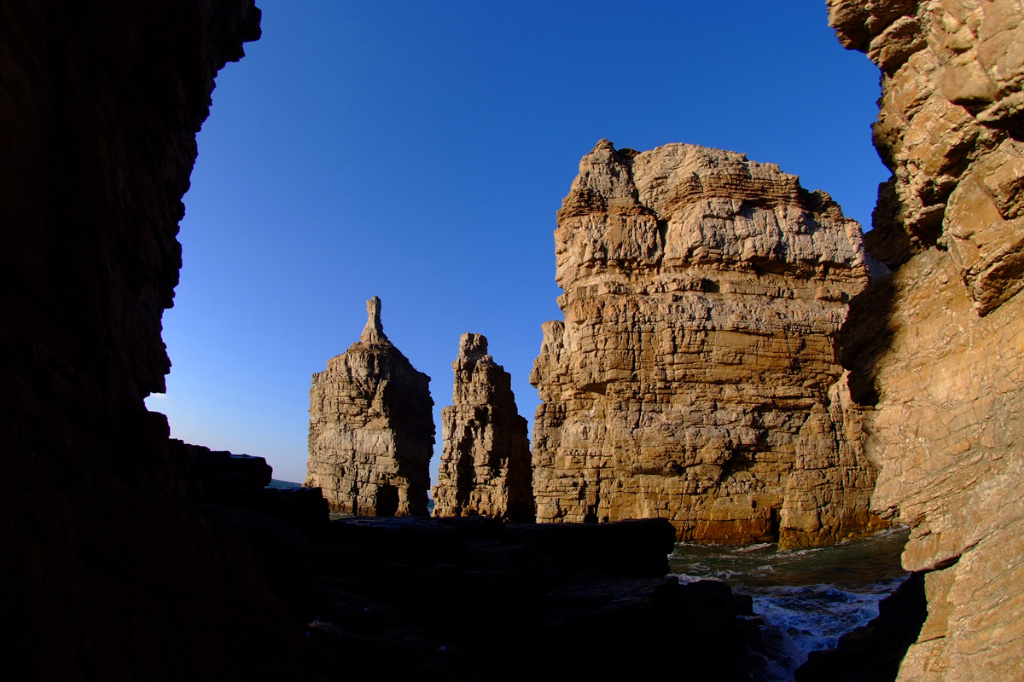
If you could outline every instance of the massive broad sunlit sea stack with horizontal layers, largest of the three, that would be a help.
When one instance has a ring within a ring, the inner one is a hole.
[[[827,195],[740,154],[601,140],[555,250],[565,321],[530,377],[538,520],[656,516],[681,540],[783,547],[869,526],[836,343],[868,268]]]

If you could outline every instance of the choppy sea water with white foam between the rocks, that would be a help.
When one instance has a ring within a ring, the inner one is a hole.
[[[835,647],[879,614],[879,602],[906,579],[899,557],[908,535],[897,528],[785,552],[680,543],[669,564],[680,582],[717,580],[750,595],[769,649],[764,682],[788,681],[809,652]]]

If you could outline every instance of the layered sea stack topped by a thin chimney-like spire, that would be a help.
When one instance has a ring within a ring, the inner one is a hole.
[[[359,340],[332,357],[309,389],[304,485],[331,509],[361,516],[427,513],[434,444],[430,377],[388,341],[381,301],[367,301]]]

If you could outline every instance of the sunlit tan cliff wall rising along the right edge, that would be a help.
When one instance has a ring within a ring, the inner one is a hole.
[[[912,526],[929,619],[901,680],[1024,679],[1024,4],[829,2],[882,69],[893,171],[854,304],[873,507]]]

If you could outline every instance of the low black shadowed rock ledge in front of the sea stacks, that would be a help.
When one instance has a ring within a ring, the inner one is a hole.
[[[181,444],[217,465],[202,513],[262,554],[292,613],[293,672],[330,679],[653,679],[680,656],[698,679],[752,680],[762,666],[751,600],[668,576],[664,519],[516,524],[481,516],[329,520],[317,488],[268,488],[259,458]],[[226,475],[233,468],[238,475]],[[237,484],[225,486],[225,479]],[[254,513],[255,512],[255,513]],[[501,662],[497,665],[496,662]]]

